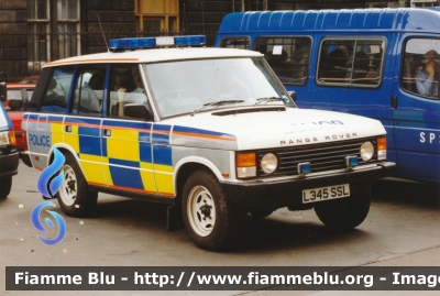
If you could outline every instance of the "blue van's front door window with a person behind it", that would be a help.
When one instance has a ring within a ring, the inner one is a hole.
[[[418,96],[439,99],[440,40],[410,39],[405,44],[402,88]]]

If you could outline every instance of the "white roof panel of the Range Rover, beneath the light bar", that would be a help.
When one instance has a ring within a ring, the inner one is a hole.
[[[120,53],[101,53],[75,56],[47,63],[45,67],[68,65],[68,64],[90,64],[90,63],[156,63],[183,59],[201,58],[228,58],[228,57],[255,57],[262,56],[261,53],[242,51],[234,48],[212,48],[212,47],[173,47],[173,48],[151,48],[127,51]]]

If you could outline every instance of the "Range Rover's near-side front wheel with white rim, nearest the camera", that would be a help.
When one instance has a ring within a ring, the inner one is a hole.
[[[240,234],[244,209],[227,199],[208,169],[193,173],[183,190],[182,210],[186,230],[201,249],[220,251]]]

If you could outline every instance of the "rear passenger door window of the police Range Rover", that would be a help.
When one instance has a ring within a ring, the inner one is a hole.
[[[72,113],[100,116],[102,110],[106,65],[78,67]]]

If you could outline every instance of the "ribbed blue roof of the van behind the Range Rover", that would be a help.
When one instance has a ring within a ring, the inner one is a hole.
[[[218,31],[424,31],[439,32],[439,8],[255,11],[227,14]]]

